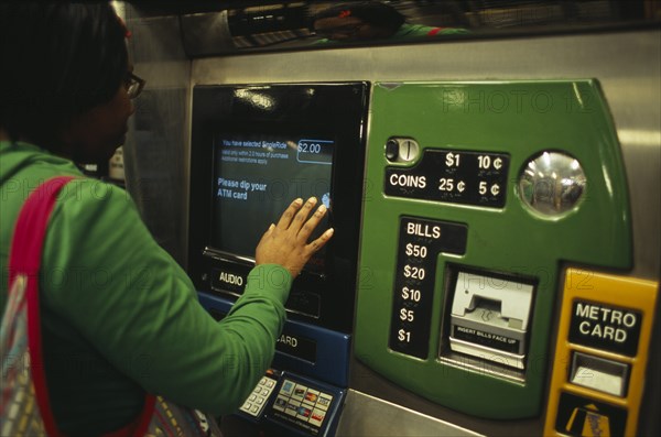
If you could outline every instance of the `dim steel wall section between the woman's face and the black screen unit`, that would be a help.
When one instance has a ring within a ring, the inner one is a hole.
[[[127,189],[155,240],[186,264],[191,61],[176,17],[123,3],[133,70],[147,80],[123,148]]]

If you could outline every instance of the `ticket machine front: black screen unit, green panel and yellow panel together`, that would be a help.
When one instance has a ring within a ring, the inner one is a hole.
[[[353,348],[473,416],[635,429],[658,285],[604,273],[630,269],[632,244],[597,81],[203,86],[194,101],[206,176],[192,222],[207,221],[189,256],[212,314],[241,294],[254,229],[291,198],[317,196],[337,230],[296,280],[273,369],[239,416],[333,435]]]

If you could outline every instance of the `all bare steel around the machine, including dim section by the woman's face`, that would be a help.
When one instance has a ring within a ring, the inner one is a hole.
[[[610,106],[628,173],[633,229],[633,270],[661,273],[661,31],[474,40],[364,48],[324,48],[188,61],[178,22],[142,20],[130,6],[126,19],[136,73],[148,80],[153,106],[138,101],[127,142],[129,190],[148,225],[185,264],[191,87],[197,84],[297,81],[517,80],[596,78]],[[158,108],[156,108],[158,106]],[[382,148],[383,144],[368,144]],[[140,168],[140,172],[138,171]],[[158,204],[165,206],[159,209]],[[659,323],[657,323],[659,326]],[[659,331],[659,329],[657,329]],[[658,334],[657,334],[658,335]],[[658,369],[658,342],[651,369]],[[657,375],[658,372],[651,372]],[[648,423],[659,405],[659,376],[649,379]],[[421,400],[354,362],[338,435],[539,435],[543,417],[494,423]],[[367,394],[369,392],[369,394]],[[402,406],[405,405],[407,407]],[[651,405],[651,406],[650,406]],[[411,409],[413,408],[413,409]],[[644,413],[644,412],[643,412]],[[441,418],[443,419],[441,419]],[[462,427],[459,427],[462,426]],[[649,433],[648,433],[649,434]]]

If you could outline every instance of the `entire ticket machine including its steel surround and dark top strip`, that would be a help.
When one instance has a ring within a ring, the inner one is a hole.
[[[317,2],[138,3],[127,188],[205,308],[292,199],[335,229],[226,436],[658,434],[658,19],[467,2],[466,37],[333,45]]]

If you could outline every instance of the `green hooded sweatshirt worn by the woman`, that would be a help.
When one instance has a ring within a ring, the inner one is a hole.
[[[39,184],[59,175],[76,179],[63,188],[48,223],[40,298],[61,430],[120,428],[140,413],[144,391],[216,416],[236,411],[273,358],[290,273],[256,267],[230,314],[216,321],[123,189],[22,142],[0,142],[0,307],[19,210]]]

